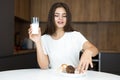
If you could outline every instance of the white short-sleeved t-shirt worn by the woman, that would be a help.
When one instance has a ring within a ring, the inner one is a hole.
[[[42,36],[44,53],[49,57],[49,67],[58,68],[61,64],[77,66],[79,64],[79,52],[87,39],[77,31],[65,32],[58,40],[50,35]]]

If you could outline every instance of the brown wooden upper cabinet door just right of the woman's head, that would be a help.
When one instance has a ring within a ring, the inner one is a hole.
[[[71,0],[73,21],[90,22],[99,20],[99,0]]]

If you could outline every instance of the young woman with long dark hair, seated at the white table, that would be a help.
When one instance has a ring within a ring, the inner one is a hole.
[[[71,27],[71,13],[65,3],[55,3],[48,14],[45,33],[32,34],[29,37],[36,44],[37,61],[41,69],[57,69],[61,64],[76,67],[81,73],[93,67],[92,57],[98,54],[97,48],[80,32]],[[81,50],[83,54],[79,60]]]

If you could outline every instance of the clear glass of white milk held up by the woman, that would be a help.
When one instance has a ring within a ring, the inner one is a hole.
[[[38,17],[32,17],[31,19],[31,27],[32,27],[32,34],[38,34],[39,29],[39,18]]]

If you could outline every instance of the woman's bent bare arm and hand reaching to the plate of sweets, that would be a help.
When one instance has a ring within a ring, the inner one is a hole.
[[[82,73],[88,69],[89,65],[93,67],[92,57],[96,56],[97,54],[98,49],[89,41],[86,41],[83,44],[83,54],[81,55],[80,63],[77,67],[78,71]]]

